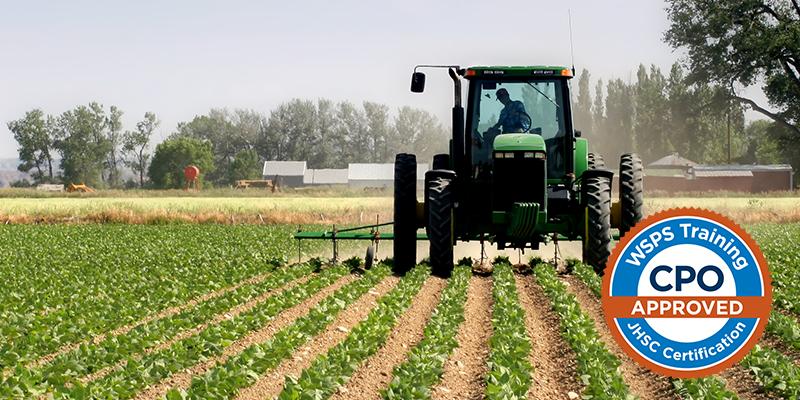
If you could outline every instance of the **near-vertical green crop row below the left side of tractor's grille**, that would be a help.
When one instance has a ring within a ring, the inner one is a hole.
[[[531,386],[533,370],[528,360],[531,342],[525,331],[525,311],[519,305],[514,271],[507,259],[495,260],[492,278],[494,309],[486,397],[525,398]]]

